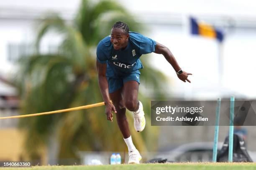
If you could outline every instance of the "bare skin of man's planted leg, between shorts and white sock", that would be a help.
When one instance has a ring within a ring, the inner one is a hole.
[[[123,134],[123,138],[128,138],[131,136],[128,121],[125,115],[125,105],[122,95],[123,87],[116,90],[113,93],[110,93],[110,99],[112,100],[115,110],[116,110],[116,119],[118,122],[118,126],[121,130],[121,133]]]

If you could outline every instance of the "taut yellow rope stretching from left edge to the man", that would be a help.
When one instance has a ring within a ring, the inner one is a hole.
[[[73,107],[73,108],[69,108],[69,109],[55,110],[55,111],[51,111],[51,112],[41,112],[41,113],[34,113],[34,114],[28,114],[28,115],[0,117],[0,119],[12,119],[12,118],[20,118],[20,117],[32,117],[32,116],[40,116],[40,115],[49,115],[49,114],[54,114],[54,113],[61,113],[61,112],[69,112],[69,111],[74,111],[74,110],[88,109],[88,108],[98,107],[98,106],[103,106],[103,105],[105,105],[104,102],[99,102],[99,103],[95,103],[95,104],[91,104],[91,105],[84,105],[84,106]]]

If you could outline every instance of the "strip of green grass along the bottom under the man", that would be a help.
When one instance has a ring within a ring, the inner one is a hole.
[[[256,170],[256,163],[166,163],[97,166],[34,166],[32,168],[0,168],[1,170]]]

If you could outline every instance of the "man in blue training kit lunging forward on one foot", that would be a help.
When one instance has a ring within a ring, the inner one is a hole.
[[[111,35],[97,45],[98,80],[107,119],[112,122],[113,112],[116,113],[118,126],[128,147],[128,163],[140,163],[141,155],[133,145],[125,110],[133,112],[134,128],[141,132],[146,120],[142,103],[138,101],[139,69],[143,68],[139,57],[151,52],[164,55],[179,79],[190,82],[187,77],[192,74],[179,67],[167,47],[137,32],[129,32],[128,25],[123,22],[115,23]]]

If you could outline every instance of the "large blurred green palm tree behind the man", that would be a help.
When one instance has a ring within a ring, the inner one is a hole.
[[[141,30],[141,25],[112,0],[82,0],[71,24],[56,14],[48,15],[39,23],[36,53],[20,60],[17,82],[21,112],[31,114],[102,101],[95,68],[95,50],[97,43],[109,35],[111,25],[117,20],[127,23],[130,30]],[[56,35],[62,37],[58,52],[42,54],[40,42],[51,30],[57,31]],[[146,63],[146,60],[143,62]],[[157,93],[160,84],[165,81],[164,76],[147,64],[144,65],[141,81],[151,83]],[[158,81],[154,76],[158,77]],[[150,120],[151,99],[143,93],[140,93],[140,98],[148,101],[144,107],[148,113],[147,120]],[[26,130],[26,153],[31,159],[38,159],[41,148],[46,147],[49,159],[54,160],[56,157],[77,158],[79,150],[124,150],[126,146],[117,123],[107,121],[104,112],[104,107],[95,107],[21,119],[20,127]],[[128,119],[132,122],[131,116]],[[147,147],[153,146],[155,141],[150,139],[157,135],[152,133],[154,130],[156,128],[151,128],[149,121],[142,136],[131,130],[134,143],[140,150],[146,151]],[[145,143],[146,138],[148,140]]]

